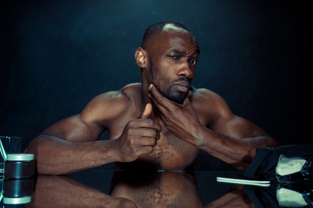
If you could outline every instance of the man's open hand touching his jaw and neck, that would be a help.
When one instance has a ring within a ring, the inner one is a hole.
[[[152,84],[149,85],[149,90],[153,107],[157,110],[166,129],[176,137],[194,145],[194,135],[202,125],[189,100],[191,91],[180,105],[162,96]]]

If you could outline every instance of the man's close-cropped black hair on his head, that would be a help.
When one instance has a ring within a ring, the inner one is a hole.
[[[144,48],[145,44],[147,44],[147,41],[149,40],[149,38],[152,35],[157,34],[160,31],[162,31],[162,29],[164,28],[164,26],[166,24],[171,24],[175,27],[178,27],[178,28],[181,28],[181,29],[184,29],[184,30],[190,32],[189,29],[185,25],[183,25],[182,23],[180,23],[178,21],[172,21],[172,20],[158,21],[158,22],[155,22],[155,23],[149,25],[145,29],[145,31],[143,33],[142,41],[141,41],[141,47]]]

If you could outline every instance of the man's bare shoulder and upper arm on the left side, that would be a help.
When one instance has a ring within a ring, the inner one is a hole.
[[[92,142],[107,130],[112,120],[123,111],[124,97],[117,91],[94,97],[80,114],[63,119],[47,128],[42,135],[70,142]],[[121,107],[120,107],[121,106]],[[118,108],[119,107],[119,108]]]

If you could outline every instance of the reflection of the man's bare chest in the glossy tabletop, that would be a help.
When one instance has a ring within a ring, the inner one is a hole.
[[[203,208],[192,173],[117,171],[110,196],[129,199],[138,208]]]

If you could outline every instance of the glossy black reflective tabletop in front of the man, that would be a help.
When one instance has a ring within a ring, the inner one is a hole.
[[[114,171],[1,179],[1,208],[309,208],[312,186],[217,182],[239,171]],[[281,194],[281,189],[289,190]],[[285,196],[284,196],[285,195]],[[279,199],[278,199],[279,197]],[[278,202],[279,200],[279,202]]]

